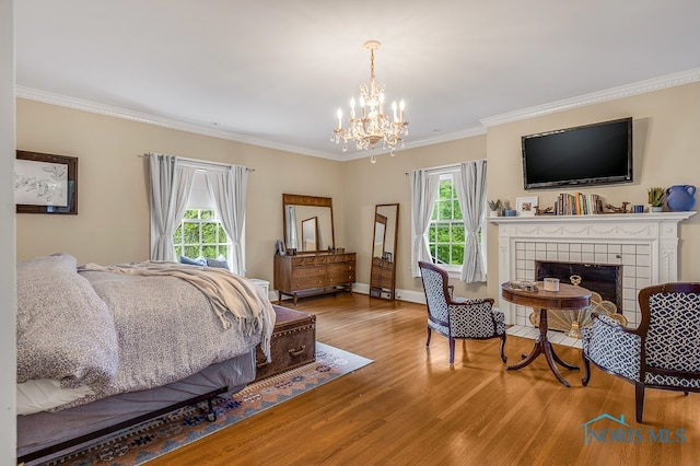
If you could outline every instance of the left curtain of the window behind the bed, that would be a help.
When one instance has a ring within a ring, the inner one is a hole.
[[[195,168],[174,155],[149,154],[151,180],[151,260],[177,261],[173,233],[187,208]]]

